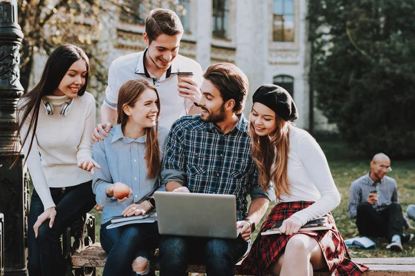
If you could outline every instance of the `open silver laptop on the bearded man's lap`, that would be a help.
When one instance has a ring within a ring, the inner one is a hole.
[[[234,195],[156,192],[158,231],[162,235],[236,239]]]

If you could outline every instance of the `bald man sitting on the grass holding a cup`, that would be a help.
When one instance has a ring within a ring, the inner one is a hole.
[[[351,184],[349,217],[356,217],[360,235],[386,237],[390,250],[401,251],[402,243],[410,242],[414,234],[403,234],[403,227],[414,229],[403,217],[398,204],[396,180],[388,177],[391,160],[378,153],[370,163],[371,170]]]

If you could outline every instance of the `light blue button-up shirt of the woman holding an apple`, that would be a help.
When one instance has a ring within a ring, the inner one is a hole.
[[[169,130],[158,129],[160,159],[163,158],[165,138]],[[147,179],[145,164],[145,135],[131,139],[122,134],[121,125],[111,129],[108,137],[93,144],[93,159],[100,164],[94,168],[92,188],[98,204],[104,205],[101,223],[105,224],[112,217],[121,215],[127,206],[145,201],[155,190],[165,190],[160,186],[160,177]],[[107,197],[107,186],[116,182],[127,184],[133,194],[126,201],[120,202],[115,197]]]

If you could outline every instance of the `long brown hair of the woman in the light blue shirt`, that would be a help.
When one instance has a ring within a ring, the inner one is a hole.
[[[150,85],[148,81],[142,79],[131,79],[125,82],[118,92],[117,112],[118,119],[117,124],[120,124],[122,129],[127,124],[128,117],[124,112],[124,106],[130,106],[131,108],[136,104],[138,98],[146,89],[151,89],[156,92],[157,95],[157,108],[156,115],[156,128],[145,128],[145,164],[147,166],[147,178],[154,179],[158,176],[161,170],[160,161],[160,148],[158,146],[158,115],[160,115],[160,98],[156,88]]]

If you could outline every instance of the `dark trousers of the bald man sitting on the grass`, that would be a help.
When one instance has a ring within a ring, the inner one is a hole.
[[[402,208],[397,203],[392,203],[380,211],[367,201],[361,202],[358,206],[356,226],[362,236],[386,237],[390,241],[393,235],[402,237],[404,225]]]

